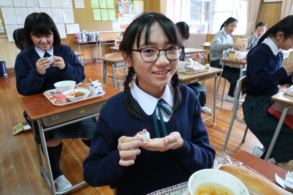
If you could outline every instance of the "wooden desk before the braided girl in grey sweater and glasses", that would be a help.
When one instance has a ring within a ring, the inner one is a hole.
[[[220,64],[222,65],[222,69],[224,69],[224,66],[229,66],[231,68],[239,68],[239,79],[242,77],[242,72],[246,70],[246,64],[247,64],[246,59],[236,60],[236,59],[230,59],[230,58],[228,58],[228,56],[225,56],[225,57],[219,58],[219,60],[220,60]],[[220,78],[219,78],[219,83],[218,83],[218,87],[217,87],[217,95],[218,95],[218,91],[219,91],[219,87],[220,87],[221,78],[222,78],[222,73],[220,74]],[[226,84],[226,82],[224,82],[224,89],[223,89],[222,98],[217,98],[222,101],[226,101],[224,99],[225,84]],[[230,101],[227,101],[227,102],[230,102]]]

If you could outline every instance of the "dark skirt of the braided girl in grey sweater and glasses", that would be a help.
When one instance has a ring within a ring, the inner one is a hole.
[[[222,65],[220,65],[220,60],[214,60],[211,61],[211,67],[214,68],[222,68]],[[231,68],[228,66],[224,66],[222,77],[227,79],[230,84],[236,84],[239,79],[239,68]],[[220,75],[221,73],[217,73],[217,75]],[[242,75],[244,76],[245,73],[242,72]]]

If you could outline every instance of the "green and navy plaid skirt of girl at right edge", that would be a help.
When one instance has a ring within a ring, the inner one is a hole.
[[[248,128],[260,140],[265,149],[269,148],[279,119],[268,112],[274,101],[270,95],[254,96],[246,94],[242,104],[243,114]],[[293,159],[293,130],[283,124],[271,157],[278,163]]]

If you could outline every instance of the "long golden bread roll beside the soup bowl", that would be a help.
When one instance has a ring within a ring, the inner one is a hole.
[[[283,195],[283,192],[272,182],[255,172],[234,165],[224,165],[220,170],[237,177],[248,189],[261,195]]]

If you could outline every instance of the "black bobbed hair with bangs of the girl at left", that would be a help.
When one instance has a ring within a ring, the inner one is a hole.
[[[52,18],[46,13],[31,13],[25,18],[24,34],[25,45],[29,52],[34,46],[31,39],[32,35],[48,35],[53,33],[54,50],[59,49],[61,46],[60,35],[57,27]]]

